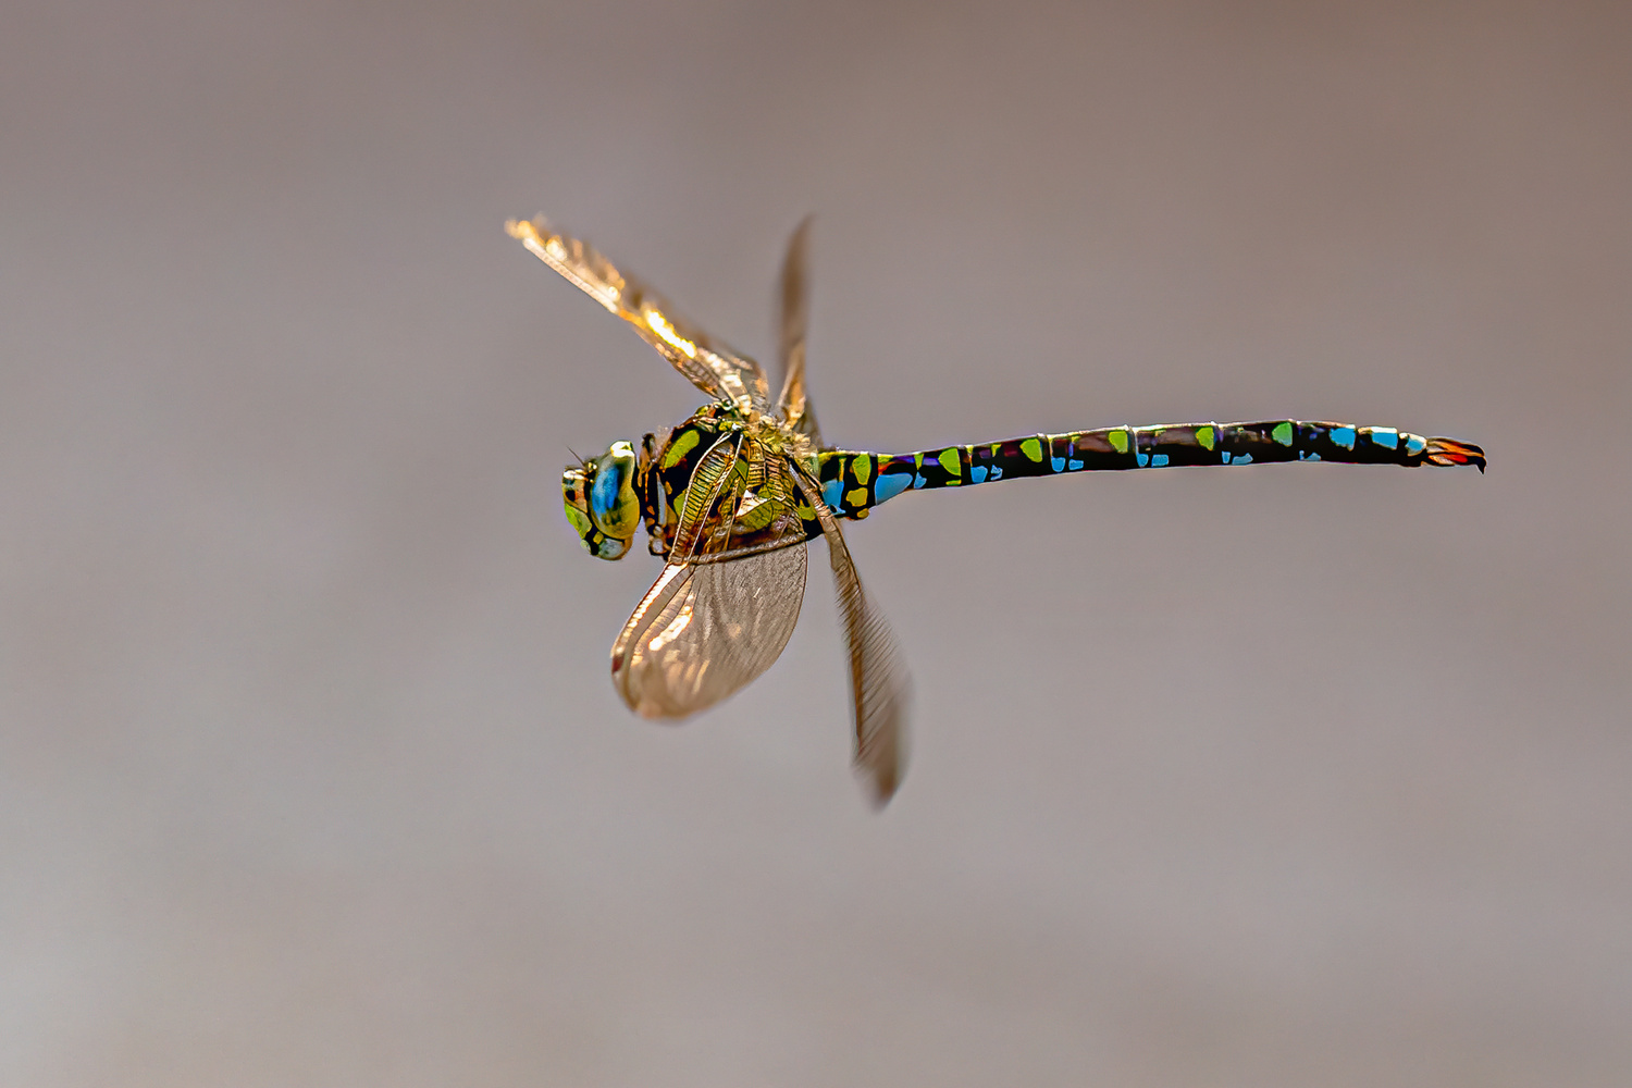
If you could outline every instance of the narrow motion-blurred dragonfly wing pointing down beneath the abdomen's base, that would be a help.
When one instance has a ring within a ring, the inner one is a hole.
[[[901,652],[896,649],[889,625],[862,590],[862,577],[855,573],[839,519],[821,501],[818,481],[803,470],[800,478],[827,540],[827,561],[832,564],[832,579],[839,590],[844,641],[850,651],[855,770],[871,791],[873,803],[883,807],[906,772],[907,672],[901,666]]]

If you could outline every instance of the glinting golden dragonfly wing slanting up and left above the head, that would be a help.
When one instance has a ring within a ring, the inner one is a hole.
[[[633,276],[619,272],[612,261],[589,245],[557,232],[543,217],[532,222],[512,219],[504,223],[504,230],[591,299],[628,321],[692,385],[715,400],[736,401],[744,409],[767,408],[770,387],[757,362],[684,320],[661,295]]]

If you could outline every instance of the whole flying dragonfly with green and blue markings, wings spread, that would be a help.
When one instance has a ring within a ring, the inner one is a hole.
[[[681,316],[658,292],[543,217],[508,233],[708,395],[640,447],[617,440],[561,473],[566,520],[592,556],[623,558],[645,525],[663,573],[612,643],[612,683],[643,718],[681,719],[741,690],[777,661],[805,599],[806,545],[827,545],[849,651],[854,765],[875,804],[906,767],[907,672],[868,599],[840,522],[904,491],[1182,465],[1342,462],[1474,465],[1480,447],[1397,427],[1268,419],[1030,434],[912,453],[826,445],[805,387],[809,219],[793,232],[775,292],[782,388]]]

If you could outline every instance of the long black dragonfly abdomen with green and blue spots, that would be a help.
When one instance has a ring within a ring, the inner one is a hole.
[[[868,509],[902,491],[1072,471],[1271,462],[1485,468],[1483,450],[1456,439],[1428,439],[1395,427],[1266,419],[1031,434],[916,453],[826,450],[819,455],[819,478],[823,501],[834,512],[865,517]]]

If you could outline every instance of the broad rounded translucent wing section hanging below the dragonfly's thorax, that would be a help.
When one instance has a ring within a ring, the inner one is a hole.
[[[612,644],[612,683],[643,718],[713,706],[782,656],[805,600],[803,545],[671,563]]]

